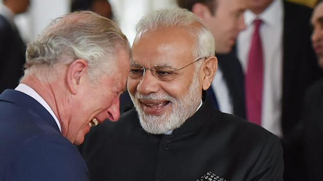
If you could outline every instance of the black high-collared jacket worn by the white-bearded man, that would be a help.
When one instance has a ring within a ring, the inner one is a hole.
[[[256,139],[255,139],[256,138]],[[143,130],[137,112],[94,127],[80,147],[91,180],[282,180],[282,148],[265,129],[205,102],[172,135]]]

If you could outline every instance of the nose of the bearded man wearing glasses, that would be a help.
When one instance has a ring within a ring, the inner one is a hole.
[[[156,93],[159,90],[157,79],[153,76],[152,71],[146,70],[142,79],[137,85],[137,91],[141,94],[148,95],[149,93]]]

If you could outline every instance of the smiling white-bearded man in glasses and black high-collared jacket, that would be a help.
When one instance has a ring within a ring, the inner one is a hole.
[[[91,180],[282,180],[276,136],[203,101],[214,52],[213,35],[187,10],[138,22],[127,82],[135,109],[80,147]]]

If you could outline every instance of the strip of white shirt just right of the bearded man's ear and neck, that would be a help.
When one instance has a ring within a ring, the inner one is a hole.
[[[211,86],[213,88],[219,110],[221,112],[233,114],[233,103],[229,94],[229,88],[220,67],[217,67],[217,72]]]

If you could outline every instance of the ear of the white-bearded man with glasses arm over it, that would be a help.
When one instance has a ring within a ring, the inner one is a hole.
[[[207,58],[201,66],[201,84],[203,90],[207,90],[214,79],[215,73],[217,71],[217,58],[209,57]]]

